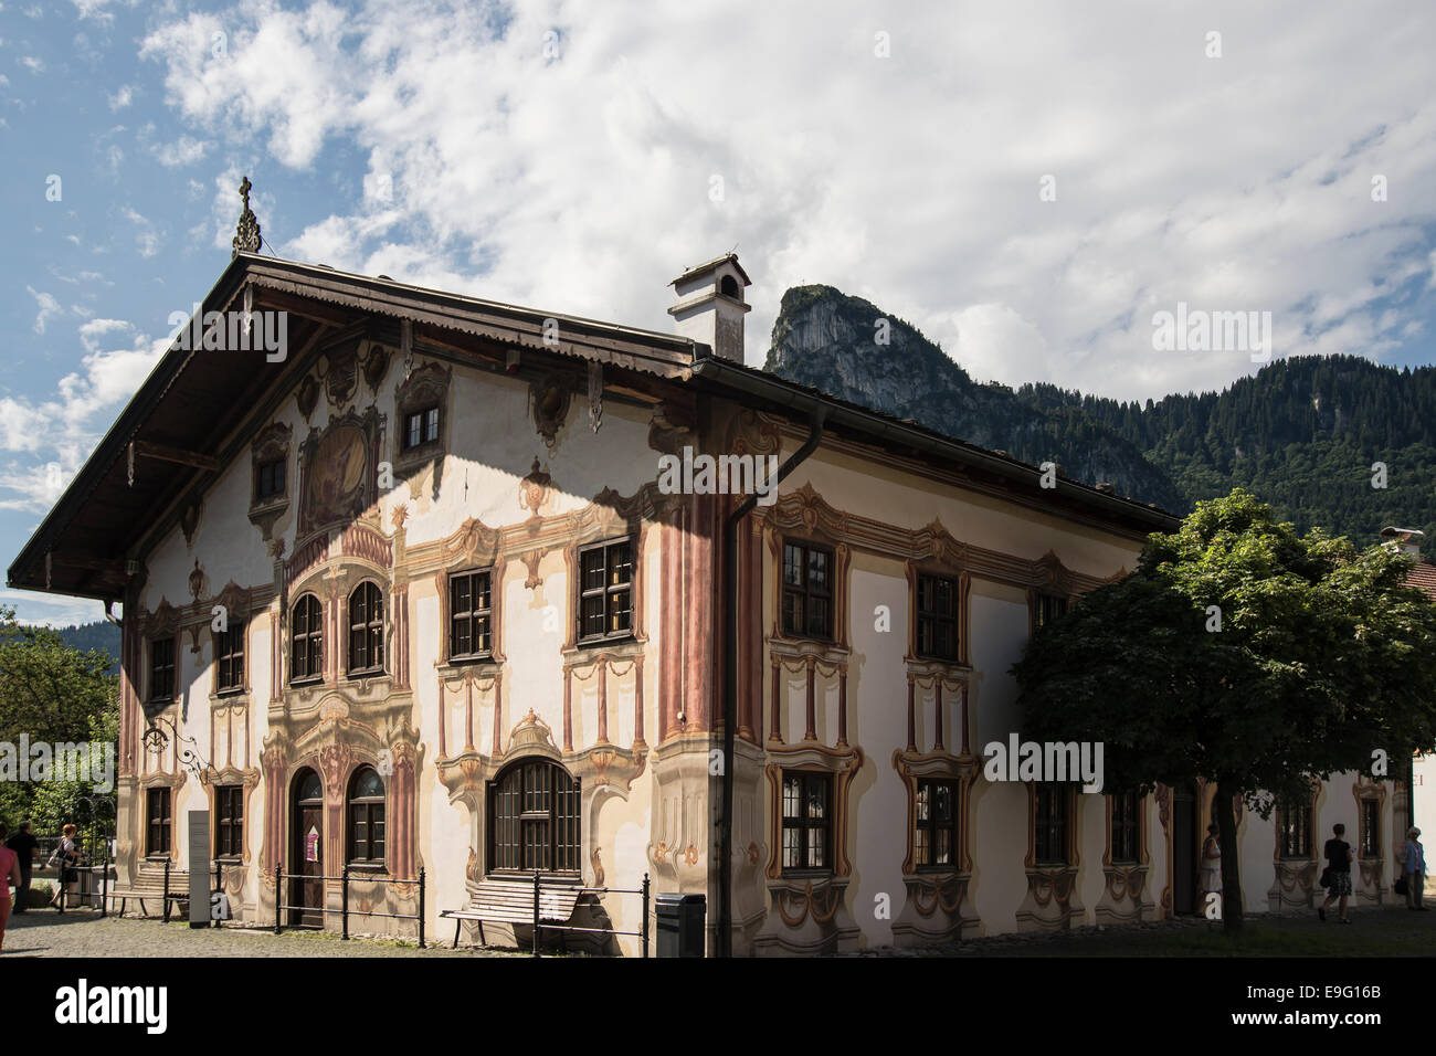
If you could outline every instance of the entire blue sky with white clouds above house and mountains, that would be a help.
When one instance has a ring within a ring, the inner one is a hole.
[[[1278,356],[1432,362],[1433,43],[1380,0],[3,0],[0,552],[227,264],[241,174],[280,256],[661,330],[737,246],[754,363],[813,282],[981,381],[1255,369],[1155,352],[1178,302],[1272,312]]]

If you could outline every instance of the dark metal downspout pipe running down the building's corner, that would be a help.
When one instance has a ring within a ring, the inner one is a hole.
[[[823,440],[823,421],[827,408],[821,404],[813,408],[808,438],[788,460],[778,467],[767,491],[781,484],[798,464],[817,450]],[[734,747],[738,730],[738,524],[758,503],[758,494],[744,499],[728,519],[722,532],[722,605],[724,605],[724,658],[722,658],[722,815],[718,851],[718,954],[732,957],[732,783]]]

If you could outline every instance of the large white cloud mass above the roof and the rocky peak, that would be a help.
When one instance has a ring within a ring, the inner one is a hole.
[[[540,0],[501,37],[472,4],[241,0],[161,17],[142,55],[227,157],[366,154],[360,197],[289,256],[666,330],[668,280],[737,244],[752,361],[783,290],[824,282],[975,376],[1147,397],[1254,369],[1155,353],[1152,315],[1178,302],[1271,310],[1278,355],[1380,355],[1420,313],[1387,295],[1413,260],[1436,269],[1436,9],[1377,7],[1228,7],[1212,60],[1206,20],[1133,0]]]

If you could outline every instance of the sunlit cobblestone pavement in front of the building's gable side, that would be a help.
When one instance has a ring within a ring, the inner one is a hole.
[[[63,917],[55,909],[30,909],[10,918],[0,957],[527,957],[517,950],[478,950],[454,940],[419,950],[414,940],[396,942],[382,938],[352,938],[312,931],[273,931],[225,925],[190,928],[185,921],[161,924],[158,920],[126,917],[101,918],[86,911]]]

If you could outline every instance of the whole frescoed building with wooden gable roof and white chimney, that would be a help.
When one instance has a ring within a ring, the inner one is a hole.
[[[744,366],[747,286],[732,256],[685,272],[671,336],[238,253],[202,312],[284,313],[283,355],[172,348],[10,570],[123,605],[121,885],[211,868],[182,839],[207,810],[257,924],[336,925],[345,868],[399,934],[421,868],[431,934],[534,869],[646,874],[707,895],[718,950],[725,823],[737,954],[1199,909],[1209,789],[981,759],[1032,629],[1176,520]],[[744,496],[663,484],[704,454],[801,458],[731,553]],[[1381,901],[1397,790],[1239,813],[1248,909],[1310,907],[1334,822]],[[639,930],[632,897],[583,902]]]

